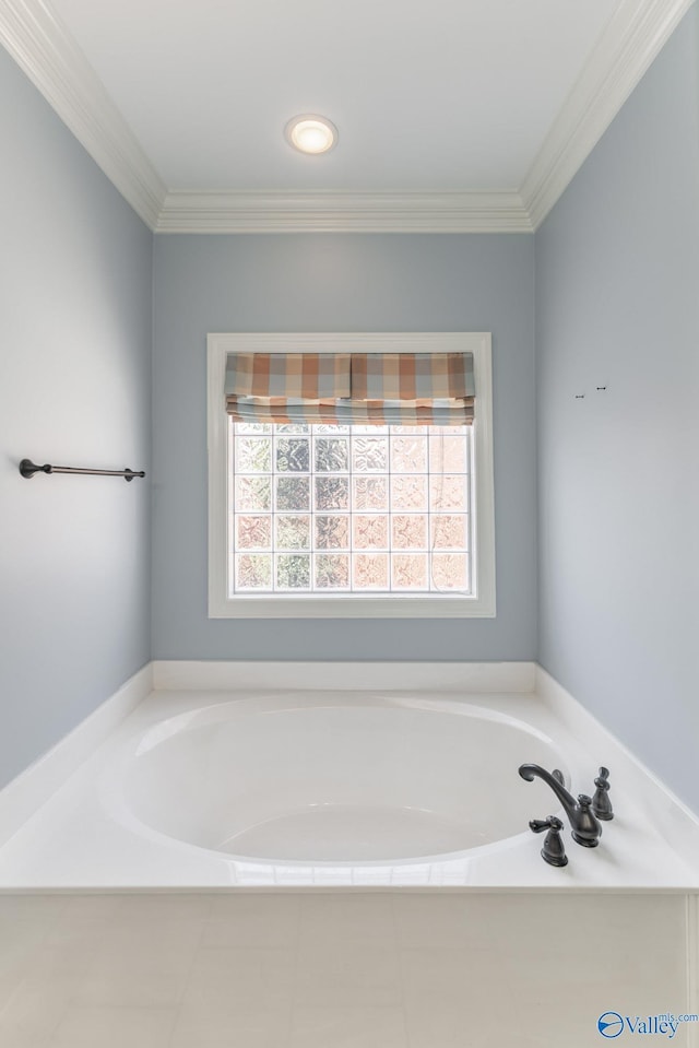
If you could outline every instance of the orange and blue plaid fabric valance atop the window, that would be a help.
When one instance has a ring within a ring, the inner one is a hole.
[[[467,426],[471,353],[232,353],[226,410],[235,422]]]

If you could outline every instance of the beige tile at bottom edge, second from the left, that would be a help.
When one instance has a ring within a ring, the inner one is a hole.
[[[176,1016],[177,1011],[168,1008],[73,1005],[48,1045],[49,1048],[169,1048]]]

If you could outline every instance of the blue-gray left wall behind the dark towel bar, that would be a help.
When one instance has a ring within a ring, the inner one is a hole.
[[[0,786],[150,658],[152,236],[0,48]]]

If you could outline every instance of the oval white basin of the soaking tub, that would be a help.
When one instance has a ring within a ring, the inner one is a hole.
[[[565,765],[543,732],[466,703],[259,697],[146,731],[123,802],[143,826],[239,858],[416,861],[522,834],[524,759]]]

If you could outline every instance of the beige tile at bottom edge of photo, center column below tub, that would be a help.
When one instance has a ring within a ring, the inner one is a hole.
[[[407,1048],[403,1009],[297,1006],[288,1048]]]

